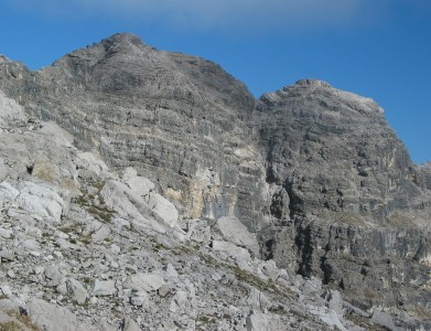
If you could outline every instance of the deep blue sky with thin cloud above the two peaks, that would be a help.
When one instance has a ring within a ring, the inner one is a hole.
[[[0,0],[0,54],[31,70],[117,32],[219,63],[256,97],[300,78],[371,97],[431,160],[431,0]]]

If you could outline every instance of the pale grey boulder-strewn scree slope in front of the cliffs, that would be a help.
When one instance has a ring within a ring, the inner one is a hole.
[[[238,220],[220,218],[212,227],[202,218],[181,218],[157,184],[134,169],[112,171],[98,156],[64,143],[68,136],[56,125],[33,127],[13,100],[0,100],[21,114],[17,127],[14,118],[2,116],[11,109],[0,107],[0,136],[15,143],[0,146],[0,330],[332,325],[315,313],[326,309],[321,282],[314,279],[313,290],[301,295],[300,286],[311,281],[252,258],[256,238]],[[72,172],[40,175],[25,166],[45,153],[67,156],[50,164],[63,169],[69,161]],[[73,174],[68,189],[62,185],[65,174]],[[69,197],[67,207],[62,196]],[[235,237],[235,231],[244,233]]]

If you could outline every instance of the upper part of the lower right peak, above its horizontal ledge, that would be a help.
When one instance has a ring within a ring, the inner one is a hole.
[[[267,181],[287,192],[291,218],[391,223],[422,194],[422,178],[371,99],[300,81],[261,103]]]

